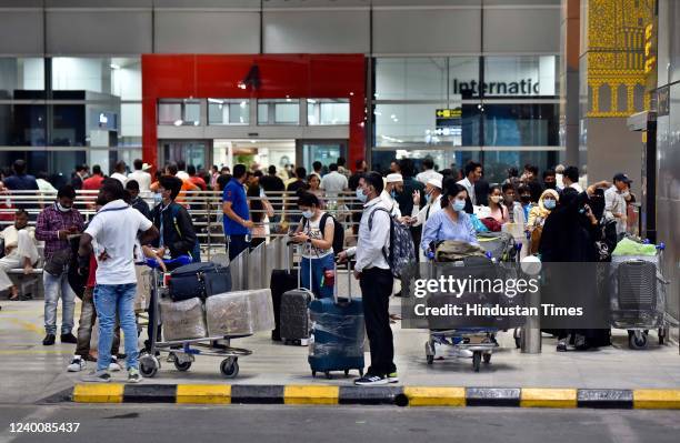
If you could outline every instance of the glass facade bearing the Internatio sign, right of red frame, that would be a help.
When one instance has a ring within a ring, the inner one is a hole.
[[[557,56],[377,58],[373,67],[374,169],[402,157],[431,157],[440,169],[478,160],[501,181],[509,164],[557,163]]]

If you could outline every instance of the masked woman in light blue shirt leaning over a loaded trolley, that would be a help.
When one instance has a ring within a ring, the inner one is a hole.
[[[426,255],[430,252],[430,244],[442,240],[456,240],[470,244],[478,244],[477,233],[470,215],[466,213],[466,199],[468,191],[458,183],[447,187],[441,198],[442,210],[430,217],[427,221],[420,248]]]

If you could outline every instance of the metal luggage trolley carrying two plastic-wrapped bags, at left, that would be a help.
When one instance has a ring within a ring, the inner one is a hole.
[[[167,261],[169,269],[177,268],[179,259]],[[139,359],[140,372],[144,377],[153,377],[161,368],[161,354],[168,354],[168,361],[174,364],[174,368],[180,372],[186,372],[196,361],[197,355],[208,355],[223,358],[220,363],[220,372],[227,379],[234,379],[239,374],[239,356],[252,354],[252,351],[241,348],[232,348],[231,339],[241,339],[247,335],[237,336],[208,336],[192,340],[176,340],[176,341],[159,341],[158,321],[160,315],[160,299],[169,296],[169,291],[166,285],[166,274],[160,272],[158,263],[154,260],[147,260],[146,264],[151,268],[151,300],[154,315],[149,314],[149,323],[156,323],[156,328],[150,328],[151,336],[149,338],[149,346]],[[217,346],[216,346],[217,344]]]

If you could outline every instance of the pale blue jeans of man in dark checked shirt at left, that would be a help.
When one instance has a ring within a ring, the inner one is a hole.
[[[57,334],[57,305],[61,296],[61,333],[69,334],[73,330],[73,312],[76,311],[76,293],[69,284],[68,273],[54,276],[42,273],[44,286],[44,330],[48,334]]]

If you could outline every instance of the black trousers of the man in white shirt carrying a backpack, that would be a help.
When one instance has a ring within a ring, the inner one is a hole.
[[[393,276],[387,269],[371,268],[361,272],[361,298],[366,332],[371,350],[369,375],[387,375],[397,371],[394,343],[390,328],[389,304]]]

